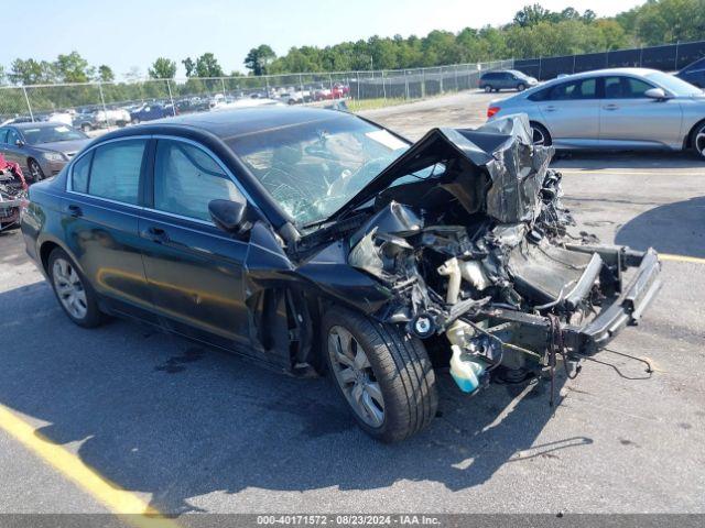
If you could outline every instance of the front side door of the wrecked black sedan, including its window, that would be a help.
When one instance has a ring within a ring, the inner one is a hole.
[[[248,244],[210,221],[208,202],[243,199],[225,167],[191,142],[160,139],[140,220],[144,270],[165,324],[219,346],[249,344],[242,283]]]

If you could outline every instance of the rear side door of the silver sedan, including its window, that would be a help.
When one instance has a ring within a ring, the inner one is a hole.
[[[596,146],[599,141],[598,82],[595,77],[560,82],[545,91],[539,109],[553,143]]]

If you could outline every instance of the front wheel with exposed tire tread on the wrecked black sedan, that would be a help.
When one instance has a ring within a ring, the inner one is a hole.
[[[416,338],[341,308],[324,315],[323,338],[334,383],[368,435],[395,442],[429,426],[438,396]]]

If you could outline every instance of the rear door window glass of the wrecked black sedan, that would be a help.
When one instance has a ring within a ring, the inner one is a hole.
[[[93,155],[88,194],[137,204],[145,145],[144,140],[126,140],[97,147]]]

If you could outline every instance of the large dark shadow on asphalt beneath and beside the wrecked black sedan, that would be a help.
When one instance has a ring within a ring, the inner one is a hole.
[[[441,416],[399,444],[369,439],[324,378],[301,380],[141,324],[72,324],[50,288],[0,294],[0,403],[123,488],[169,514],[248,488],[375,490],[430,481],[459,491],[507,463],[589,449],[536,443],[547,384],[491,385],[475,397],[440,375]],[[563,378],[558,380],[558,388]],[[77,446],[77,448],[76,448]],[[228,503],[238,507],[237,498]]]

